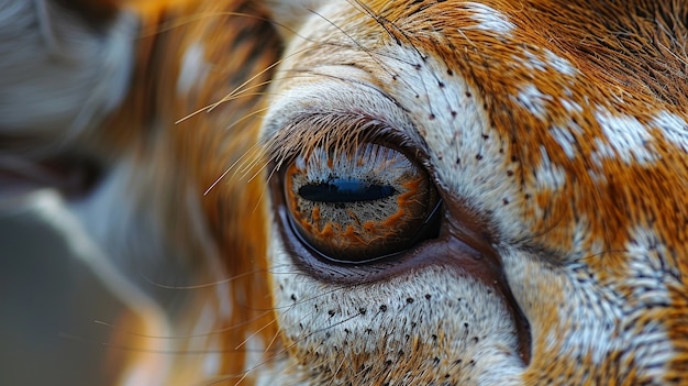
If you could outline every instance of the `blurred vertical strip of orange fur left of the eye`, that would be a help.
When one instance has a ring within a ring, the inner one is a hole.
[[[211,285],[207,289],[189,290],[190,298],[199,300],[196,305],[191,302],[185,315],[200,315],[206,304],[219,309],[219,300],[212,299],[220,284],[212,285],[212,282],[218,277],[228,282],[232,317],[207,327],[209,330],[203,334],[215,341],[213,350],[222,353],[218,375],[231,374],[228,379],[233,383],[244,371],[246,349],[241,343],[252,333],[270,341],[277,328],[270,324],[270,299],[264,295],[268,293],[264,243],[267,219],[260,210],[265,183],[251,178],[260,169],[259,164],[252,164],[255,163],[252,154],[256,153],[253,146],[259,124],[259,117],[253,112],[263,107],[259,97],[266,87],[264,82],[269,79],[269,71],[263,75],[258,71],[276,60],[277,49],[263,49],[254,42],[236,37],[248,34],[269,42],[275,41],[275,36],[263,20],[265,15],[242,2],[173,4],[159,15],[154,13],[148,18],[151,22],[142,30],[144,37],[140,42],[135,86],[122,112],[109,125],[112,128],[109,132],[122,135],[122,128],[146,128],[155,122],[149,132],[137,129],[132,132],[142,143],[141,164],[151,163],[145,167],[157,181],[154,184],[157,190],[143,194],[157,196],[168,206],[162,209],[162,216],[169,219],[170,238],[181,247],[191,247],[182,254],[191,258],[188,264],[203,266],[206,263],[199,254],[207,251],[193,246],[196,241],[187,234],[188,224],[174,209],[185,200],[200,201],[199,209],[208,221],[207,238],[217,243],[214,247],[222,266],[211,268],[221,269],[213,274],[218,276],[201,274],[197,277],[198,282]],[[190,92],[180,97],[175,89],[180,73],[179,58],[192,44],[202,44],[203,58],[212,67],[204,82],[195,85]],[[273,46],[276,47],[276,43]],[[231,60],[226,59],[228,53],[231,53]],[[249,78],[256,74],[255,79]],[[241,92],[233,96],[237,89]],[[212,111],[207,112],[210,107]],[[187,114],[192,115],[185,119]],[[242,169],[237,172],[232,165]],[[229,174],[221,177],[225,172]],[[189,181],[195,197],[185,192]],[[196,269],[202,272],[203,268]],[[184,319],[187,328],[196,322],[193,317]],[[179,354],[173,363],[199,363],[196,366],[202,367],[202,355],[185,354],[184,345],[175,350]],[[269,356],[266,353],[265,359]],[[179,365],[184,368],[177,379],[180,384],[182,379],[192,383],[203,376],[187,367]]]

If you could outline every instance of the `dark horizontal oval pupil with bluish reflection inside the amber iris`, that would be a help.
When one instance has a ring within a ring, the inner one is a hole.
[[[299,188],[299,196],[317,202],[374,201],[397,194],[389,185],[368,184],[360,179],[333,178],[322,184],[309,184]]]

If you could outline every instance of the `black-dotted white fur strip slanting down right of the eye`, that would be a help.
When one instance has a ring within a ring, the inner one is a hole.
[[[411,48],[390,47],[390,51],[391,57],[421,62]],[[437,87],[437,77],[444,74],[444,68],[432,57],[418,70],[406,66],[398,71],[403,81],[392,82],[388,92],[407,109],[414,126],[424,132],[423,140],[436,177],[447,188],[447,194],[462,198],[470,210],[491,212],[493,224],[504,240],[517,239],[523,231],[518,225],[520,209],[504,207],[502,199],[517,197],[519,187],[507,176],[509,159],[500,153],[506,140],[490,126],[480,92],[460,77],[440,78],[445,87]],[[471,97],[467,97],[467,92]],[[431,114],[433,120],[429,120]]]

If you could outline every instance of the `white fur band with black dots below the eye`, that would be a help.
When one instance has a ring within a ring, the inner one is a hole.
[[[337,348],[346,348],[352,354],[375,353],[377,361],[385,361],[395,357],[399,350],[411,352],[404,339],[407,334],[428,342],[433,334],[440,334],[447,338],[442,340],[442,353],[437,353],[443,371],[460,367],[452,364],[456,359],[465,359],[464,364],[475,360],[475,368],[463,375],[478,376],[462,379],[463,385],[518,384],[515,374],[522,364],[517,355],[509,354],[515,348],[515,338],[509,332],[509,313],[501,301],[495,301],[493,295],[488,295],[473,279],[457,276],[451,269],[432,267],[344,289],[307,275],[290,274],[296,267],[291,256],[281,252],[279,240],[274,240],[270,250],[273,265],[280,267],[275,279],[284,288],[275,294],[279,324],[306,350],[317,350],[321,357],[339,357],[342,353]],[[433,298],[425,299],[425,294],[432,294]],[[409,297],[415,301],[408,304]],[[460,297],[465,297],[465,302],[458,300]],[[380,306],[387,306],[387,310],[380,311]],[[366,309],[365,315],[359,311],[362,308]],[[464,323],[470,328],[465,330]],[[482,340],[474,345],[473,337]],[[421,366],[432,362],[432,359],[418,360]],[[341,365],[348,365],[347,357],[341,361]],[[291,371],[308,374],[309,368],[295,365]],[[414,376],[421,375],[409,373],[409,378],[395,381],[417,384]],[[297,379],[295,384],[302,384]],[[339,384],[336,379],[332,382]]]

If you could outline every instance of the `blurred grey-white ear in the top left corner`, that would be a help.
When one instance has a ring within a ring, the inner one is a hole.
[[[0,0],[0,139],[67,142],[119,106],[137,22],[115,1]]]

